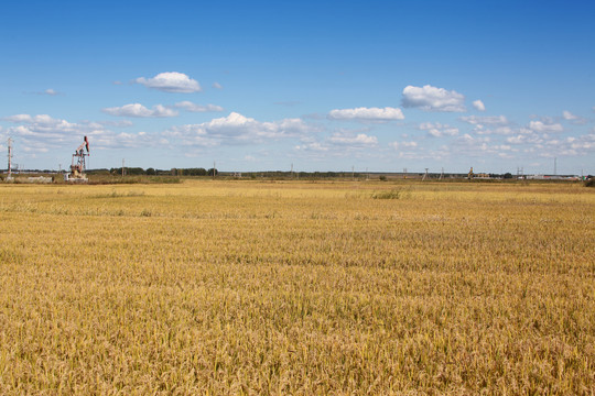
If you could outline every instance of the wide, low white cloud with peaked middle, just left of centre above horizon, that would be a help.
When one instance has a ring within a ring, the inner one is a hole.
[[[165,131],[170,139],[183,144],[212,146],[219,144],[251,144],[267,140],[298,138],[313,131],[301,119],[260,122],[231,112],[227,117],[199,124],[176,125]]]

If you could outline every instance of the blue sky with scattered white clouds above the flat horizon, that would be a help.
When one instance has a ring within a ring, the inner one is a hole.
[[[589,1],[21,1],[0,151],[26,168],[595,174]]]

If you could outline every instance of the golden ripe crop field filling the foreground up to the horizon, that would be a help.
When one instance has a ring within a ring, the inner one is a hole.
[[[0,394],[595,391],[595,191],[0,185]]]

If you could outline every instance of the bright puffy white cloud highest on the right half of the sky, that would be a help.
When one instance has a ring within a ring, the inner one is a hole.
[[[404,108],[419,108],[425,111],[462,112],[466,110],[464,95],[430,85],[407,86],[403,89],[402,105]]]

